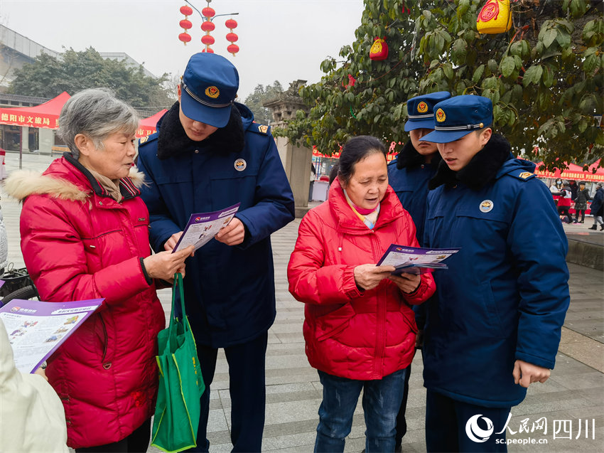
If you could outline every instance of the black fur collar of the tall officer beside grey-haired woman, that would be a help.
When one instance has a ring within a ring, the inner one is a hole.
[[[231,117],[227,125],[217,129],[210,137],[201,142],[195,142],[187,137],[183,125],[180,124],[179,111],[180,104],[177,101],[161,119],[157,137],[159,159],[168,159],[178,154],[191,152],[200,146],[210,149],[212,152],[225,154],[239,153],[244,148],[245,132],[237,105],[231,108]]]

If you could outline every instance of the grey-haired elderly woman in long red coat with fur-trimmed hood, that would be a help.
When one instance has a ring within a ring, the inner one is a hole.
[[[70,152],[42,176],[11,175],[23,200],[21,250],[48,302],[104,298],[48,361],[76,452],[145,452],[165,326],[153,279],[183,272],[192,247],[151,255],[144,182],[133,167],[136,112],[108,90],[84,90],[60,114]]]

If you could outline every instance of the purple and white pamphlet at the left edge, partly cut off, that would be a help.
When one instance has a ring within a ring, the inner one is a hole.
[[[0,308],[16,367],[33,373],[94,312],[104,299],[41,302],[13,299]]]

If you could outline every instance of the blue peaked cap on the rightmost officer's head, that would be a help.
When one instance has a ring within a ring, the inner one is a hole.
[[[493,103],[488,97],[461,95],[434,106],[434,130],[421,137],[426,142],[448,143],[493,122]]]

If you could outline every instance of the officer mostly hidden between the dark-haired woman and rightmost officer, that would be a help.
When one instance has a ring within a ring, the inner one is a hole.
[[[416,228],[419,245],[424,240],[424,219],[426,218],[426,197],[428,181],[436,174],[441,156],[436,143],[426,142],[424,136],[434,130],[434,105],[451,97],[448,91],[433,92],[428,95],[411,97],[407,101],[409,120],[405,123],[405,132],[409,132],[409,142],[403,146],[397,159],[388,165],[388,183],[397,193],[401,205],[411,215]],[[416,322],[420,333],[424,329],[425,304],[414,305]],[[406,369],[403,402],[397,415],[396,448],[407,431],[405,419],[407,396],[409,395],[409,376],[411,366]]]

